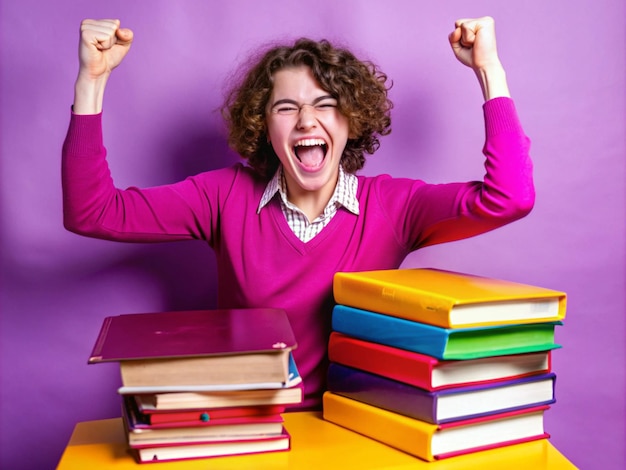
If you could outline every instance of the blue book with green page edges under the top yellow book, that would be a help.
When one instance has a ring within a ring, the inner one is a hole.
[[[335,305],[332,313],[334,331],[438,359],[476,359],[560,348],[554,342],[557,325],[562,322],[440,328],[345,305]]]

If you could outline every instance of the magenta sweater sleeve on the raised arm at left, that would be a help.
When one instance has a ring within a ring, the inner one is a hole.
[[[116,188],[106,161],[101,114],[72,114],[61,173],[64,226],[81,235],[127,242],[210,242],[220,190],[227,188],[221,181],[228,179],[218,170],[171,185]]]

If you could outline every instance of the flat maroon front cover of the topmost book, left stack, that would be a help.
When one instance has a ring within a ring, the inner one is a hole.
[[[89,363],[249,354],[295,347],[284,310],[133,313],[104,319]]]

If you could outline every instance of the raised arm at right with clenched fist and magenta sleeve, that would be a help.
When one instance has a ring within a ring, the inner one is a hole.
[[[457,20],[448,39],[457,59],[474,71],[483,91],[486,171],[483,181],[443,185],[416,181],[408,195],[387,199],[406,201],[403,207],[393,204],[389,213],[403,221],[399,237],[411,249],[501,227],[527,215],[535,202],[530,140],[510,98],[496,49],[494,20]]]

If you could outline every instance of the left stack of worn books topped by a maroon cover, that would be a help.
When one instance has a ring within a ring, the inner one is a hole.
[[[88,362],[119,362],[129,449],[158,462],[288,450],[295,347],[283,310],[139,313],[105,318]]]

